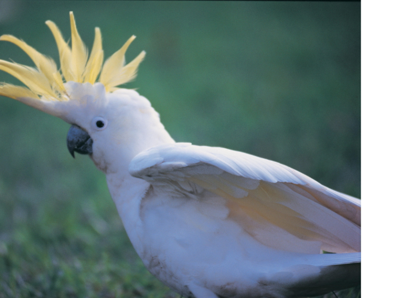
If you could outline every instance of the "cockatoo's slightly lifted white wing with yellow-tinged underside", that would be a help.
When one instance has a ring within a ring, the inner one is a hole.
[[[176,143],[139,153],[129,171],[175,195],[207,190],[225,198],[228,218],[266,246],[305,253],[361,251],[361,200],[280,163]]]

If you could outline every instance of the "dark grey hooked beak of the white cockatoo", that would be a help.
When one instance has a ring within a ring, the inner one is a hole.
[[[80,154],[92,153],[92,139],[88,133],[77,125],[72,125],[67,132],[67,149],[74,157],[74,151]]]

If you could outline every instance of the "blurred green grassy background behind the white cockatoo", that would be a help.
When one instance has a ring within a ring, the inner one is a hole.
[[[0,34],[58,62],[44,22],[69,39],[70,10],[89,48],[101,28],[105,58],[137,36],[127,61],[147,55],[125,87],[177,142],[276,160],[361,198],[360,2],[0,0]],[[8,42],[0,59],[33,66]],[[104,175],[71,158],[68,127],[0,98],[0,298],[177,297],[137,259]]]

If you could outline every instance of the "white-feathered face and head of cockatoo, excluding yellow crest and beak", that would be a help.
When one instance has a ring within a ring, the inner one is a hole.
[[[67,82],[69,101],[46,102],[64,111],[62,118],[85,130],[93,140],[92,159],[105,173],[127,171],[140,151],[174,143],[150,102],[135,90],[106,93],[102,83]],[[97,126],[101,122],[101,127]],[[103,126],[102,126],[103,124]]]

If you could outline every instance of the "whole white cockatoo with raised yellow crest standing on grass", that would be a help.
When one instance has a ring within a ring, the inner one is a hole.
[[[117,87],[145,56],[125,65],[135,36],[103,64],[99,28],[88,57],[72,12],[71,48],[46,24],[61,71],[2,35],[36,68],[0,60],[27,86],[2,83],[0,95],[71,124],[68,150],[88,154],[106,174],[133,247],[160,281],[187,298],[317,296],[360,283],[359,199],[274,161],[175,143],[145,97]]]

